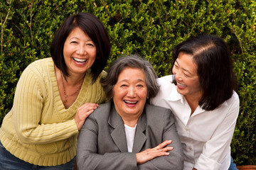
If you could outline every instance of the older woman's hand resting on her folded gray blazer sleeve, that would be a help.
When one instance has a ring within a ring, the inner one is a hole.
[[[174,147],[166,147],[166,145],[170,145],[171,140],[166,140],[161,144],[157,145],[154,148],[146,149],[143,152],[139,152],[136,154],[137,164],[144,164],[155,157],[167,156],[169,155],[169,151],[174,149]]]

